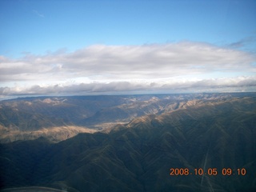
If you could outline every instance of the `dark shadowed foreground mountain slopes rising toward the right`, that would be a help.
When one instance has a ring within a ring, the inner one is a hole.
[[[208,96],[176,98],[108,134],[1,144],[1,187],[256,191],[256,97]]]

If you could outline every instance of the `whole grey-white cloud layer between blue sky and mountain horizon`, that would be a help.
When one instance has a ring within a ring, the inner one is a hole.
[[[255,62],[254,54],[200,42],[0,56],[0,94],[251,88],[256,86]]]

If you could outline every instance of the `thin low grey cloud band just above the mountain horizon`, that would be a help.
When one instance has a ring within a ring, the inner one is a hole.
[[[1,87],[0,95],[22,94],[109,94],[109,93],[191,93],[206,91],[254,91],[256,77],[217,78],[177,81],[169,79],[159,82],[90,82],[70,85],[50,85],[30,87]]]

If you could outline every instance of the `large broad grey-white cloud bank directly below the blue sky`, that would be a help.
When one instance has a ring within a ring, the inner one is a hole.
[[[170,78],[212,71],[253,71],[255,55],[198,42],[143,46],[89,46],[73,53],[0,58],[1,81],[38,78],[91,80]]]

